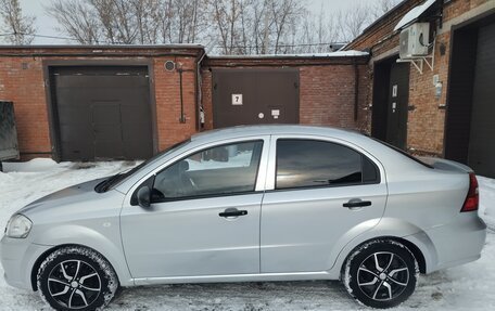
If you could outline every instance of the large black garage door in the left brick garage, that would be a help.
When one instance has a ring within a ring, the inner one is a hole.
[[[147,67],[53,67],[50,74],[61,160],[152,156]]]

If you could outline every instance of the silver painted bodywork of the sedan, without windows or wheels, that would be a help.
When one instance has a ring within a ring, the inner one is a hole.
[[[378,172],[370,182],[277,189],[281,141],[329,142],[363,155]],[[203,150],[262,144],[253,191],[163,200],[150,208],[138,190],[167,167]],[[339,280],[350,255],[369,241],[405,245],[422,273],[480,258],[485,224],[460,212],[471,170],[457,163],[414,160],[353,131],[255,126],[193,135],[106,192],[101,180],[43,197],[18,211],[33,222],[25,238],[4,236],[9,284],[37,289],[41,262],[63,246],[101,254],[122,286],[245,281]],[[369,206],[344,204],[370,202]],[[229,210],[242,217],[219,217]]]

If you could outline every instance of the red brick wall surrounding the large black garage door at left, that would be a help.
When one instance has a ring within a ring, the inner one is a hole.
[[[202,48],[9,48],[0,49],[0,99],[14,103],[20,151],[23,159],[51,156],[47,103],[48,82],[43,64],[51,61],[87,61],[101,65],[144,60],[152,63],[152,88],[156,108],[156,141],[163,150],[196,131],[195,73],[196,57]],[[93,55],[97,54],[97,55]],[[151,61],[150,61],[151,60]],[[179,73],[167,72],[166,61],[180,64],[182,73],[183,109],[186,122],[179,122]]]

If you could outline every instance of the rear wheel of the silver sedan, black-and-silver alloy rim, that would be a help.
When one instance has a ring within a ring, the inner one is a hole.
[[[347,258],[342,282],[358,302],[372,308],[392,308],[416,289],[419,265],[403,244],[376,239],[357,247]]]

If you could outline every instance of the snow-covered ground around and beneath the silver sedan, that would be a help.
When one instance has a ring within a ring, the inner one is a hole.
[[[0,172],[0,229],[24,205],[65,186],[116,173],[135,163],[4,164]],[[479,178],[480,215],[488,224],[482,258],[420,277],[412,297],[392,310],[495,310],[495,180]],[[3,270],[0,268],[0,275]],[[0,310],[47,310],[37,293],[10,287],[0,276]],[[369,310],[339,282],[167,285],[125,289],[109,310]]]

